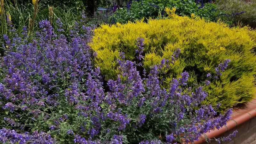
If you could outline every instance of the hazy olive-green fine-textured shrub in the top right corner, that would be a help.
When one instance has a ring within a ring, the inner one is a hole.
[[[256,28],[256,0],[217,0],[216,4],[230,15],[236,25],[242,23]],[[240,12],[244,13],[238,14]]]

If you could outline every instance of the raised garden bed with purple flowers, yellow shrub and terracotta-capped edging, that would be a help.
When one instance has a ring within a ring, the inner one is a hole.
[[[17,24],[0,1],[0,143],[253,143],[256,32],[188,2],[195,11],[150,2],[157,20],[97,27],[84,11],[70,22],[50,6],[39,22],[38,0]]]

